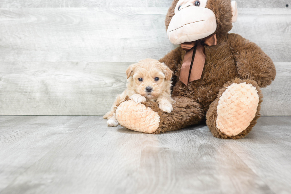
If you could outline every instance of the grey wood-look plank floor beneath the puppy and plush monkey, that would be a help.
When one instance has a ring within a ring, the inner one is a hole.
[[[0,116],[0,193],[291,193],[291,117],[241,140],[143,134],[102,117]]]

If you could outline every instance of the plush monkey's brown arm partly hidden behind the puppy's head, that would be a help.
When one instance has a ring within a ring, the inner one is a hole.
[[[178,64],[181,61],[181,47],[177,47],[174,50],[172,50],[170,53],[168,53],[166,56],[164,56],[159,61],[161,63],[165,63],[175,74],[175,71],[177,70]]]

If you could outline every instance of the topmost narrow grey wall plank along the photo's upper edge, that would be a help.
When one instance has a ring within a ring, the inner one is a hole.
[[[290,8],[290,0],[236,0],[240,8]],[[172,0],[0,0],[2,8],[35,7],[170,7]]]

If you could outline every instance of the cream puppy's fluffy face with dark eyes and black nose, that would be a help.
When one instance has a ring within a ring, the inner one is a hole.
[[[145,59],[132,64],[126,75],[135,92],[149,100],[170,91],[172,71],[157,60]]]

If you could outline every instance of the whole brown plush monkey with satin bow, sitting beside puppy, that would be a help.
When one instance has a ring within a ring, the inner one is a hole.
[[[235,1],[174,0],[166,16],[170,41],[180,45],[164,62],[174,72],[173,112],[129,99],[116,109],[128,129],[158,134],[205,121],[217,138],[246,136],[260,117],[261,87],[275,79],[272,60],[253,42],[228,34]]]

